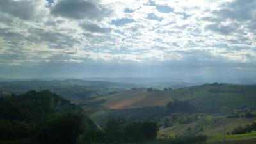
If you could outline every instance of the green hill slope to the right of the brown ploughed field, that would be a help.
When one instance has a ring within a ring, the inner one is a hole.
[[[209,90],[217,89],[219,93],[211,93]],[[239,92],[243,90],[244,93]],[[188,100],[198,109],[220,109],[221,106],[256,107],[256,86],[193,86],[167,91],[166,95]]]

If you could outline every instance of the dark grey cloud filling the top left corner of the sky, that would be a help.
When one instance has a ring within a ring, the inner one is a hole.
[[[23,20],[31,20],[35,17],[35,6],[31,1],[1,0],[0,12]]]

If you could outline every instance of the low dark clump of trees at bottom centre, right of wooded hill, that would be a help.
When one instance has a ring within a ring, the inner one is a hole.
[[[157,136],[156,122],[132,122],[125,124],[122,118],[110,118],[102,130],[88,132],[84,136],[87,143],[138,143],[154,140]],[[92,134],[93,133],[93,134]]]

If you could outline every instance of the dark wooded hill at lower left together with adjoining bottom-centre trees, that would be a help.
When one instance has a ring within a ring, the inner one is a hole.
[[[122,118],[109,118],[98,127],[76,104],[43,90],[0,98],[0,143],[75,144],[129,143],[154,140],[156,122],[124,124]]]

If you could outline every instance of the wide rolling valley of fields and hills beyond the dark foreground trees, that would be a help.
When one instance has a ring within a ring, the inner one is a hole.
[[[232,134],[237,127],[256,122],[256,85],[211,83],[182,88],[137,88],[132,83],[76,79],[0,83],[1,97],[24,93],[33,86],[63,93],[100,129],[106,127],[109,118],[118,117],[124,119],[125,125],[156,122],[159,140],[205,134],[207,143],[221,143],[224,133],[227,141],[237,143],[256,138],[254,131]]]

